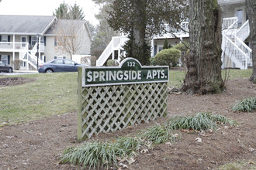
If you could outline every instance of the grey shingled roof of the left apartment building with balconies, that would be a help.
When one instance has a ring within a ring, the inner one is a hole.
[[[0,15],[0,34],[43,35],[55,16]]]

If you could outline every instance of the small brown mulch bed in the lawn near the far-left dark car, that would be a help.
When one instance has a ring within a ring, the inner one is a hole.
[[[16,86],[23,83],[30,83],[35,81],[36,78],[26,78],[26,77],[5,77],[0,78],[0,87]]]

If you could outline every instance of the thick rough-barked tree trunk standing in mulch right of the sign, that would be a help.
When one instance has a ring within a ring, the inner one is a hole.
[[[183,90],[189,94],[220,93],[221,11],[217,0],[189,0],[190,53]]]

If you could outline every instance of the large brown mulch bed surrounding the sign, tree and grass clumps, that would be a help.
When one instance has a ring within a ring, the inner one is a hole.
[[[231,110],[236,100],[251,96],[256,96],[256,86],[247,79],[229,80],[227,90],[220,94],[169,94],[168,117],[210,111],[230,117],[240,124],[233,128],[220,125],[218,131],[206,131],[205,135],[181,132],[181,141],[173,145],[154,146],[153,150],[141,153],[132,165],[127,164],[129,169],[216,169],[237,160],[255,163],[256,112],[234,113]],[[26,124],[0,127],[0,169],[77,169],[72,165],[59,164],[64,149],[78,145],[76,119],[77,113],[72,112]],[[156,122],[163,123],[167,120],[168,118],[160,118]],[[135,133],[156,122],[99,134],[90,141],[105,141],[118,135]],[[202,138],[202,142],[196,141],[196,138]],[[255,165],[248,167],[256,168]]]

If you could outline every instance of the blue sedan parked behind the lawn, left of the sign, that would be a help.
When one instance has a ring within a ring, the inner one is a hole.
[[[54,59],[40,65],[39,73],[54,73],[54,72],[76,72],[78,66],[85,66],[75,63],[71,59]]]

